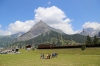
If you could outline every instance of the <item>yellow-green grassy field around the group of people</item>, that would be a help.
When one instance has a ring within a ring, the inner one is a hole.
[[[100,66],[100,48],[20,50],[21,54],[0,54],[0,66]],[[57,58],[40,59],[40,53],[57,52]]]

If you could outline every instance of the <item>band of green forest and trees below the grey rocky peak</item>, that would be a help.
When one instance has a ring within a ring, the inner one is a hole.
[[[5,41],[6,40],[6,41]],[[16,41],[16,38],[8,37],[0,37],[0,46],[5,47],[15,47],[16,45],[23,47],[27,44],[35,45],[36,47],[39,44],[55,44],[56,46],[66,46],[66,45],[78,45],[83,44],[88,46],[99,46],[100,40],[94,36],[91,38],[89,35],[83,36],[79,34],[67,35],[60,34],[58,32],[50,31],[44,34],[37,36],[36,38],[27,40],[27,41]],[[82,46],[81,49],[85,49],[85,46]]]

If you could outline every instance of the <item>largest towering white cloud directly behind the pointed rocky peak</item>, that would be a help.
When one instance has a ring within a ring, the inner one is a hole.
[[[35,9],[35,13],[35,22],[43,20],[51,27],[61,29],[67,34],[74,33],[71,25],[71,19],[67,18],[65,13],[58,7],[39,7],[38,9]]]

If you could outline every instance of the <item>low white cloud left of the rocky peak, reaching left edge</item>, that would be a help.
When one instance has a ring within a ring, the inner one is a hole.
[[[7,30],[0,29],[0,35],[11,35],[18,32],[27,32],[34,25],[34,20],[27,20],[25,22],[16,21],[8,26]]]

